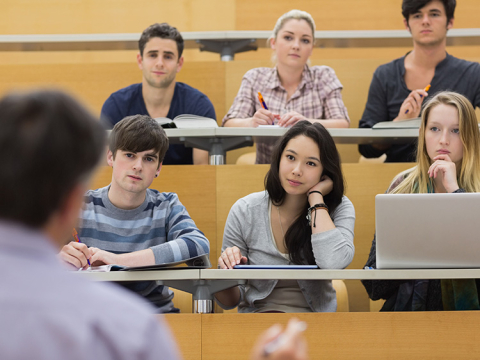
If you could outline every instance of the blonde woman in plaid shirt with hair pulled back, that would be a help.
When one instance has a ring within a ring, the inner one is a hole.
[[[314,40],[315,22],[309,13],[291,10],[283,14],[270,38],[276,66],[252,69],[244,75],[223,125],[290,127],[308,120],[325,127],[348,127],[350,120],[341,94],[343,86],[335,71],[328,66],[307,64]],[[263,95],[267,109],[258,100],[258,92]],[[270,163],[275,141],[272,138],[257,143],[257,163]]]

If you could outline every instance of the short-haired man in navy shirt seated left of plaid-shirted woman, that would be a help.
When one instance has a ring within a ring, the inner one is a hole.
[[[166,23],[149,26],[138,41],[138,48],[137,63],[142,70],[142,82],[114,92],[105,101],[101,117],[109,128],[124,117],[137,114],[170,119],[182,114],[216,118],[206,95],[175,81],[183,66],[183,38],[176,28]],[[172,144],[163,163],[208,164],[208,153]]]

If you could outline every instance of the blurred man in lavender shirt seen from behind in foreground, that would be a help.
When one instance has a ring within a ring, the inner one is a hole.
[[[179,358],[150,306],[58,262],[104,151],[98,119],[37,91],[1,99],[0,127],[0,359]]]

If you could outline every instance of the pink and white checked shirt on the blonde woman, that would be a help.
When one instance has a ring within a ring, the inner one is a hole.
[[[346,119],[347,109],[342,100],[342,84],[335,71],[328,66],[305,65],[302,81],[287,100],[287,91],[280,83],[277,69],[256,68],[243,76],[238,94],[227,115],[222,120],[252,117],[261,104],[258,92],[263,95],[268,110],[277,114],[296,111],[308,119]],[[273,146],[278,138],[262,138],[257,142],[257,164],[269,164]]]

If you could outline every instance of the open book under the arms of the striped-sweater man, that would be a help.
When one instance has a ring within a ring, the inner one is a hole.
[[[155,264],[146,266],[123,266],[123,265],[100,265],[90,266],[89,268],[79,271],[86,272],[110,272],[110,271],[153,271],[153,270],[180,270],[180,269],[209,269],[212,267],[208,254],[192,257],[190,259],[175,261],[165,264]]]

